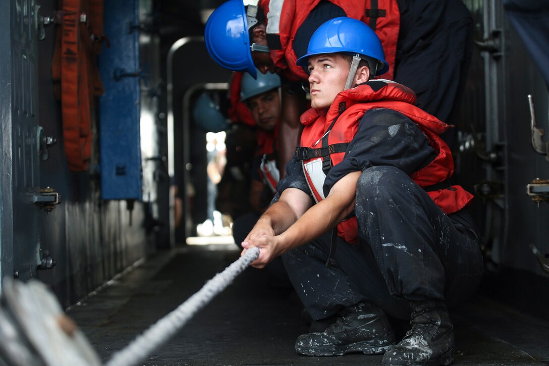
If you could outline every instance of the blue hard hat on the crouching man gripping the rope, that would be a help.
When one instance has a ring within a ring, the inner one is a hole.
[[[315,54],[342,52],[351,55],[359,54],[378,60],[383,66],[379,67],[376,75],[389,70],[385,61],[383,46],[376,32],[360,20],[340,16],[322,24],[311,36],[307,53],[300,57],[296,64],[306,66],[309,57]]]

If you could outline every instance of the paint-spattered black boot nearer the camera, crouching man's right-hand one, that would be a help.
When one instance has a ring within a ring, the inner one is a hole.
[[[406,336],[383,356],[385,365],[449,365],[453,362],[453,325],[442,301],[410,302]]]

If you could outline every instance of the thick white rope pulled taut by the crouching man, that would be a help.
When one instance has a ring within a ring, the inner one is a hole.
[[[215,295],[225,290],[234,278],[258,256],[259,248],[251,248],[246,251],[244,256],[234,261],[221,273],[216,274],[214,278],[206,282],[197,293],[189,297],[177,309],[158,320],[132,343],[116,352],[105,366],[131,366],[138,364],[139,361],[147,357],[156,347],[176,334]]]

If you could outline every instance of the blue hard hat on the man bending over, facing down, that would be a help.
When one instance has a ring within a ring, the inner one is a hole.
[[[248,21],[242,0],[229,0],[211,13],[204,41],[211,58],[224,68],[257,75],[251,59]]]

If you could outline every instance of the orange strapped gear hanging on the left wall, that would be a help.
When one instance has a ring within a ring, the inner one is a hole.
[[[59,8],[52,79],[58,83],[69,169],[83,171],[92,153],[94,97],[104,91],[96,62],[103,39],[103,0],[60,0]]]

